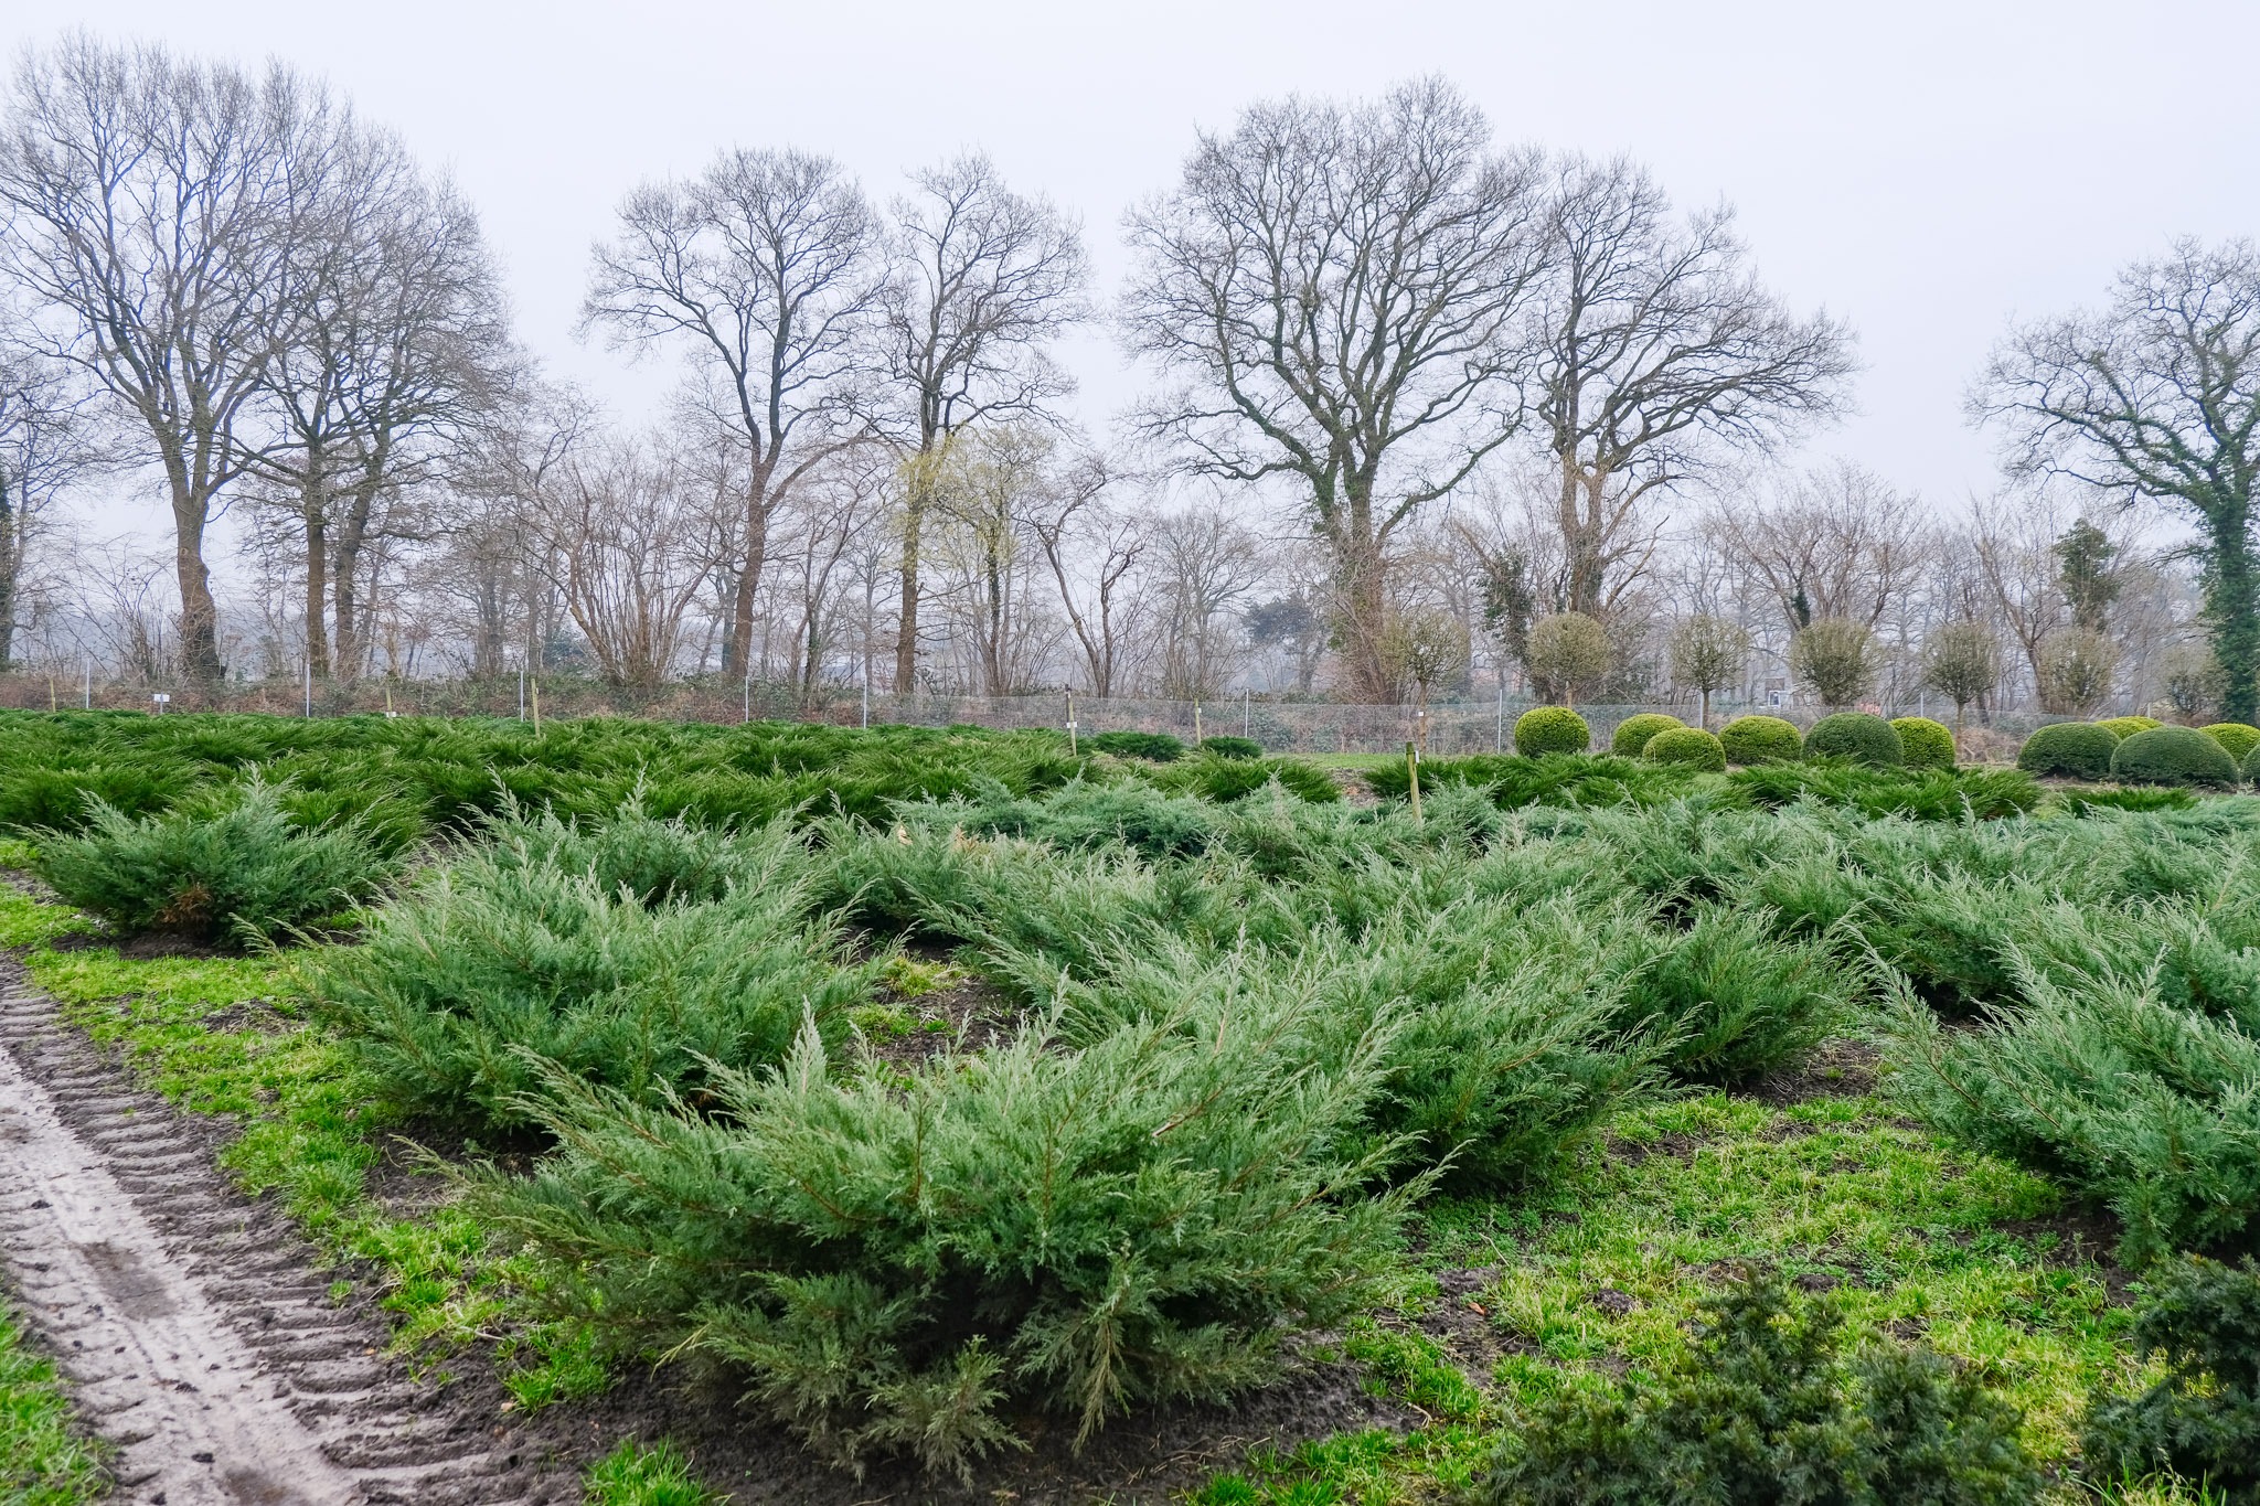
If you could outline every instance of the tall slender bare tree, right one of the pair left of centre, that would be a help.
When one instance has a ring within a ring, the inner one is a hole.
[[[918,675],[920,551],[949,443],[970,424],[1042,420],[1074,391],[1044,345],[1085,318],[1089,260],[1080,226],[1040,196],[1015,194],[985,156],[915,176],[893,203],[886,361],[904,472],[902,605],[895,693]]]

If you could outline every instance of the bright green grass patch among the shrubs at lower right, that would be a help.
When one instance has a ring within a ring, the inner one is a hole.
[[[2045,1226],[2059,1212],[2052,1183],[1953,1149],[1876,1097],[1770,1109],[1711,1093],[1620,1115],[1609,1152],[1548,1194],[1428,1203],[1422,1273],[1394,1312],[1351,1325],[1347,1357],[1426,1427],[1259,1456],[1193,1501],[1449,1497],[1480,1470],[1510,1404],[1679,1364],[1681,1323],[1738,1262],[1833,1282],[1855,1325],[1921,1334],[1975,1366],[2023,1409],[2034,1452],[2063,1465],[2088,1391],[2131,1384],[2138,1368],[2122,1343],[2131,1312],[2113,1303],[2109,1271]],[[1442,1298],[1435,1273],[1462,1267],[1496,1278]],[[1503,1350],[1487,1373],[1422,1332],[1444,1301],[1478,1312]]]

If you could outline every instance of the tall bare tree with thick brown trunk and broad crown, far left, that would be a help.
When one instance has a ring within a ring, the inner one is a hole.
[[[217,677],[203,531],[244,472],[237,429],[292,316],[287,269],[307,233],[292,163],[328,149],[339,113],[278,63],[249,77],[84,32],[27,52],[11,95],[7,271],[165,472],[181,666]]]

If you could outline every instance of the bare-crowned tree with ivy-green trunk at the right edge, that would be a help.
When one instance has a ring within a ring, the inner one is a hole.
[[[2181,239],[2109,303],[2020,325],[1971,395],[2025,472],[2077,476],[2199,528],[2222,713],[2260,713],[2260,248]]]

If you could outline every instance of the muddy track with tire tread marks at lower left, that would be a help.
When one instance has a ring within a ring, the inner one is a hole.
[[[497,1443],[212,1165],[217,1127],[131,1086],[0,957],[0,1264],[118,1445],[136,1506],[536,1506],[570,1468]]]

